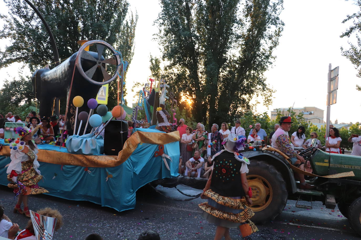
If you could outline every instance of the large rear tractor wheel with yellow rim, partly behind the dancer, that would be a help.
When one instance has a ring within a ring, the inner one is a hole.
[[[288,193],[282,175],[274,166],[256,159],[251,160],[248,168],[247,181],[253,201],[249,207],[255,212],[252,221],[261,224],[272,221],[287,203]]]

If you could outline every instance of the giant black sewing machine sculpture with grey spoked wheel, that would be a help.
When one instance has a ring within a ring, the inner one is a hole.
[[[87,46],[92,45],[96,46],[97,52],[85,50]],[[106,50],[105,47],[113,54],[113,56],[108,59],[104,59],[103,56],[103,53]],[[57,67],[53,69],[37,69],[34,74],[32,74],[32,85],[35,97],[40,102],[40,116],[51,116],[53,99],[55,97],[59,99],[69,97],[68,113],[66,118],[68,120],[67,127],[71,134],[74,129],[75,122],[75,107],[73,105],[73,98],[75,96],[82,96],[84,104],[79,108],[79,112],[89,112],[87,101],[96,97],[100,85],[109,83],[117,77],[117,72],[114,71],[114,74],[112,74],[113,76],[110,76],[106,71],[107,64],[116,65],[116,71],[119,71],[120,58],[118,55],[114,55],[116,53],[117,52],[113,49],[113,47],[106,42],[101,40],[92,40],[86,42],[78,52],[71,55]],[[73,83],[71,83],[72,79]],[[77,122],[78,126],[79,122],[80,121]],[[83,124],[83,130],[84,126],[85,124]]]

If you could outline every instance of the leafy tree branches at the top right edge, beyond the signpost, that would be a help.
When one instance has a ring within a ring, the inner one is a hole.
[[[361,0],[357,0],[356,4],[360,7],[360,11],[347,15],[347,17],[342,21],[342,23],[346,23],[352,20],[353,25],[343,32],[340,37],[351,37],[353,33],[355,33],[357,44],[349,42],[350,48],[344,50],[343,47],[341,47],[341,51],[342,55],[355,65],[355,69],[357,69],[356,76],[361,77],[361,39],[360,36],[358,36],[358,33],[361,31]],[[361,87],[359,85],[356,85],[356,89],[361,91]]]

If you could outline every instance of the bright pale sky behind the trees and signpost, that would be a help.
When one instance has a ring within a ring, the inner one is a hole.
[[[139,19],[135,34],[135,54],[127,70],[126,84],[129,90],[127,101],[129,105],[135,102],[130,92],[134,82],[146,82],[150,77],[149,55],[160,56],[156,41],[152,40],[157,27],[154,20],[160,12],[158,0],[129,0],[131,10],[138,12]],[[3,1],[0,0],[0,13],[7,14]],[[268,112],[273,108],[288,108],[295,102],[295,107],[317,107],[325,110],[327,71],[329,63],[332,68],[340,66],[339,90],[337,103],[331,105],[331,121],[338,122],[361,121],[361,92],[356,90],[360,78],[356,77],[354,66],[341,55],[340,47],[348,48],[347,41],[339,36],[350,23],[342,23],[347,14],[359,10],[353,1],[342,0],[304,0],[284,1],[284,10],[280,18],[285,23],[279,46],[274,51],[277,59],[265,76],[267,83],[277,90],[273,95],[273,103],[269,107],[263,104],[257,106],[257,112]],[[1,23],[0,23],[1,24]],[[0,40],[0,48],[8,44]],[[0,86],[4,78],[12,78],[21,64],[13,64],[0,70]],[[31,74],[24,69],[24,74]],[[9,76],[10,77],[9,77]]]

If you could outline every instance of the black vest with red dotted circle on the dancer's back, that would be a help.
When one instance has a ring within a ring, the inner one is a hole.
[[[234,153],[223,151],[213,161],[210,189],[222,196],[245,196],[239,173],[242,162],[235,159]]]

